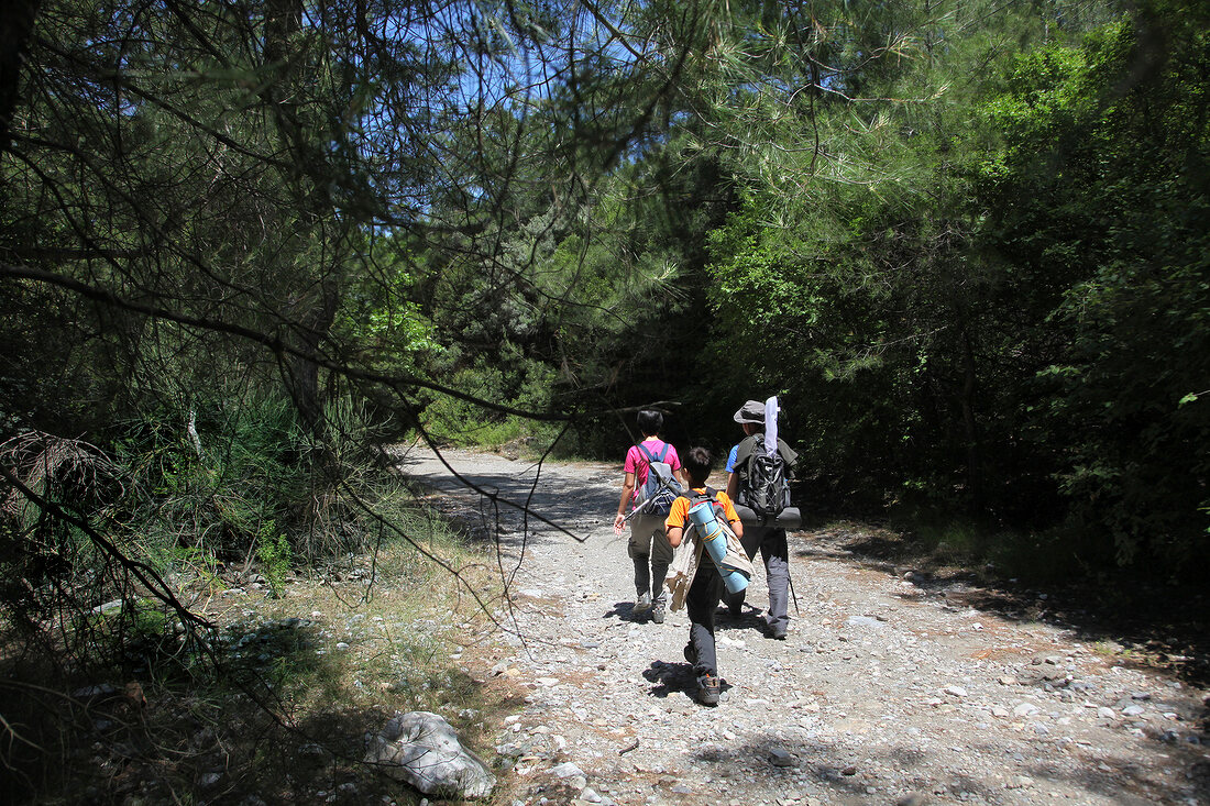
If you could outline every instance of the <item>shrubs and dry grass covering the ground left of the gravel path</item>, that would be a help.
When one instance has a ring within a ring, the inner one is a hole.
[[[491,631],[492,558],[363,420],[328,424],[322,448],[272,404],[204,451],[156,427],[2,447],[27,494],[0,557],[5,802],[409,802],[367,733],[396,710],[472,743],[492,721],[459,663]],[[282,461],[321,453],[310,474]]]

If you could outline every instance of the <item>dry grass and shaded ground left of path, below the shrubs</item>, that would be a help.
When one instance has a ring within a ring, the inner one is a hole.
[[[292,577],[281,598],[259,582],[217,592],[201,605],[217,627],[209,656],[178,627],[174,658],[73,675],[11,641],[0,800],[416,802],[361,764],[365,735],[396,710],[432,710],[483,749],[508,707],[472,672],[499,604],[489,558],[442,534],[424,546],[457,575],[398,542]],[[171,618],[140,618],[172,634]]]

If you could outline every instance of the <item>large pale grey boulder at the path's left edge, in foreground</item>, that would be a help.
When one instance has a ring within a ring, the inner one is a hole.
[[[427,710],[396,713],[370,741],[365,761],[426,795],[484,798],[496,785],[488,765],[462,747],[454,727]]]

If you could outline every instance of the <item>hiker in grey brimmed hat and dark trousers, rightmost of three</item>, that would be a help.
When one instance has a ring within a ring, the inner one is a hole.
[[[776,407],[776,398],[771,398]],[[774,415],[776,416],[776,415]],[[745,505],[750,491],[751,479],[748,472],[748,459],[755,451],[764,450],[766,403],[760,401],[748,401],[734,414],[734,421],[744,430],[744,438],[738,445],[731,449],[727,457],[727,495],[732,501]],[[799,454],[795,453],[780,437],[777,439],[777,453],[782,459],[786,474]],[[745,524],[743,535],[744,551],[751,559],[760,551],[761,560],[765,563],[765,578],[768,585],[768,611],[764,616],[765,634],[770,638],[784,640],[789,631],[789,599],[790,599],[790,549],[785,537],[785,529],[762,524]],[[738,617],[743,612],[744,595],[747,591],[736,594],[727,594],[727,609],[732,616]]]

